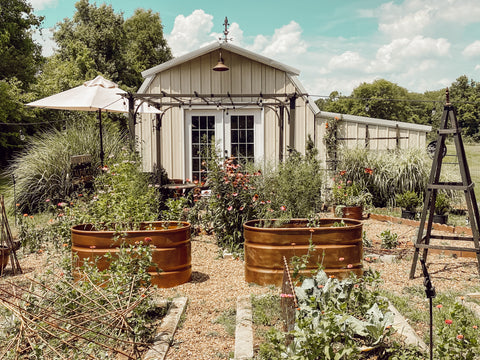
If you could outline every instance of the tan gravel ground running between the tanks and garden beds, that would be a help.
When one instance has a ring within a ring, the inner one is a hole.
[[[416,227],[367,219],[364,220],[364,230],[374,243],[372,248],[364,249],[365,256],[370,258],[370,262],[364,261],[364,267],[378,270],[386,289],[400,293],[406,286],[423,285],[420,263],[417,265],[415,279],[409,279]],[[380,233],[384,230],[398,234],[400,245],[397,249],[380,249]],[[398,260],[390,263],[373,261],[374,257],[385,253],[396,255]],[[20,256],[25,274],[11,276],[8,266],[7,276],[0,280],[0,285],[7,279],[22,282],[26,276],[35,276],[37,271],[44,269],[46,261],[54,260],[46,253]],[[427,265],[437,292],[468,293],[472,289],[480,289],[480,276],[474,257],[454,258],[451,255],[429,254]],[[187,296],[189,299],[184,320],[175,334],[167,360],[230,358],[233,356],[235,339],[218,323],[219,318],[236,308],[238,296],[279,294],[280,290],[247,284],[244,281],[243,261],[222,258],[213,236],[192,238],[192,270],[192,281],[172,289],[158,290],[165,298]]]

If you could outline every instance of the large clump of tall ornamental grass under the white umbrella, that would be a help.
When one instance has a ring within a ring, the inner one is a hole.
[[[122,147],[122,135],[110,122],[104,126],[105,154],[117,154]],[[92,155],[92,167],[100,167],[98,128],[93,120],[68,124],[62,130],[53,129],[30,138],[26,149],[16,156],[7,169],[15,176],[15,202],[22,213],[45,210],[45,200],[57,203],[67,199],[73,190],[69,177],[70,157]],[[13,189],[8,194],[13,203]]]

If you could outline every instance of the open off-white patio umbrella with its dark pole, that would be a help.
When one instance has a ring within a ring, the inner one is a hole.
[[[27,106],[59,110],[98,111],[100,161],[103,165],[102,110],[128,113],[128,101],[122,95],[127,95],[127,92],[120,89],[114,82],[99,75],[93,80],[84,82],[83,85],[28,103]],[[144,106],[139,102],[135,103],[135,109],[141,113],[160,113],[154,107]]]

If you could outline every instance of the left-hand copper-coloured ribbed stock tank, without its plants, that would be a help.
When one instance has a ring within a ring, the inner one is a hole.
[[[169,288],[183,284],[190,281],[192,276],[190,229],[187,222],[155,221],[142,224],[140,230],[122,232],[127,234],[126,237],[116,240],[115,231],[96,230],[92,224],[73,226],[72,255],[76,258],[75,268],[81,267],[85,261],[96,259],[98,269],[105,270],[110,266],[105,258],[107,253],[115,255],[122,244],[147,242],[154,245],[152,262],[155,266],[148,269],[152,285]]]

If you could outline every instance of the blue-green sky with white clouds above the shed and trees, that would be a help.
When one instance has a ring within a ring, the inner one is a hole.
[[[43,27],[72,18],[76,0],[29,0]],[[228,17],[232,44],[300,71],[312,96],[350,95],[386,79],[423,93],[459,76],[480,81],[479,0],[90,0],[130,17],[160,14],[174,56],[219,41]],[[36,36],[53,51],[49,31]]]

